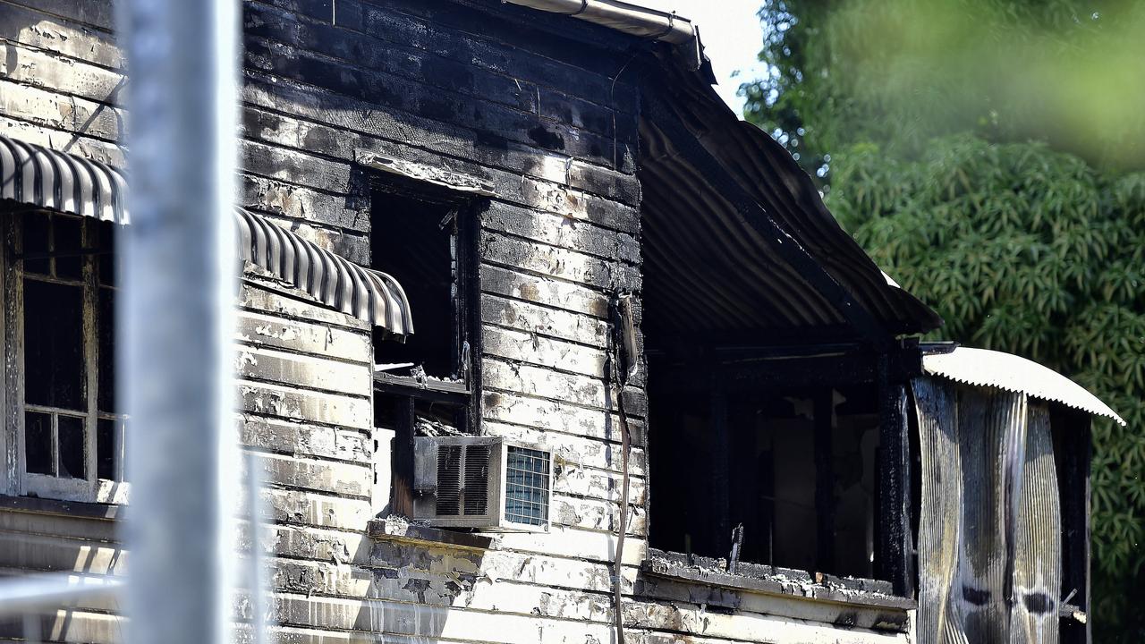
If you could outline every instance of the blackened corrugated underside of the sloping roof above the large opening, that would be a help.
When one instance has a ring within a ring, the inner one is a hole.
[[[941,319],[893,285],[828,212],[811,178],[740,120],[700,73],[664,61],[657,85],[722,170],[890,333]],[[640,120],[646,323],[690,332],[839,328],[846,316],[781,259],[647,116]]]

